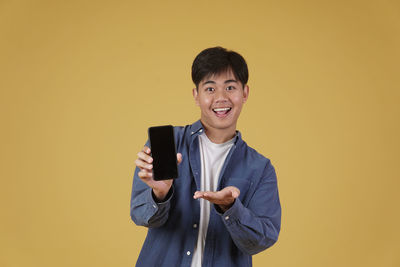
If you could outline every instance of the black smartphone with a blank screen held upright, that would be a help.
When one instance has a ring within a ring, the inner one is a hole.
[[[148,134],[153,157],[153,179],[159,181],[178,178],[174,127],[150,127]]]

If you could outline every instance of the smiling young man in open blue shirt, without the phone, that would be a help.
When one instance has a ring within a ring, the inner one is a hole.
[[[138,153],[131,217],[149,228],[136,266],[252,266],[278,239],[281,207],[270,161],[236,130],[249,96],[243,57],[221,47],[194,60],[201,118],[175,127],[179,178],[152,178],[151,150]]]

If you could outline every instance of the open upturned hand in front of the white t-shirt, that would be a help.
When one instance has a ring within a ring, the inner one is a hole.
[[[228,186],[221,191],[196,191],[193,195],[194,199],[203,198],[218,205],[223,212],[232,207],[235,199],[240,195],[240,190],[234,186]]]

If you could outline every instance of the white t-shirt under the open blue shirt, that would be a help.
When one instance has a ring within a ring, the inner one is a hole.
[[[208,139],[206,134],[199,135],[201,191],[217,191],[219,174],[233,142],[234,138],[222,144],[215,144]],[[191,267],[201,267],[211,205],[211,202],[200,198],[199,235],[193,251]]]

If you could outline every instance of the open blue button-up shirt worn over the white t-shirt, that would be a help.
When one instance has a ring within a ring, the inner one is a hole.
[[[189,267],[197,242],[200,202],[193,199],[200,189],[200,121],[174,127],[177,151],[182,153],[179,177],[167,200],[155,202],[152,190],[135,170],[131,218],[148,227],[136,266]],[[247,146],[237,132],[222,167],[218,190],[236,186],[239,197],[224,213],[210,212],[203,266],[252,266],[251,255],[267,249],[278,239],[281,206],[274,167],[269,159]]]

